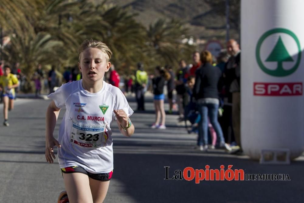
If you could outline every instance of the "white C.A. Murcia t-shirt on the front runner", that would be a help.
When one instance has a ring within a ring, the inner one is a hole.
[[[119,88],[103,81],[98,93],[82,87],[82,79],[68,82],[48,96],[58,108],[66,107],[59,127],[58,161],[60,168],[81,166],[90,173],[113,170],[113,140],[110,125],[113,110],[133,114]]]

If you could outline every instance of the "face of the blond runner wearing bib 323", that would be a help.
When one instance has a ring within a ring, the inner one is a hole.
[[[111,63],[107,62],[106,55],[98,48],[88,48],[81,52],[79,70],[82,79],[86,82],[103,81],[105,72],[109,71]]]

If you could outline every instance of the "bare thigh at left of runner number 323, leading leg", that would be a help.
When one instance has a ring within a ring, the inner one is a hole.
[[[83,173],[63,173],[63,180],[70,203],[93,203],[88,175]]]

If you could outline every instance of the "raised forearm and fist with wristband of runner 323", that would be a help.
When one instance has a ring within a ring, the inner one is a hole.
[[[126,137],[130,137],[131,135],[133,135],[135,128],[127,114],[121,109],[117,111],[114,110],[114,113],[116,114],[116,122],[121,134],[125,135]],[[130,127],[127,128],[129,126],[129,123]]]

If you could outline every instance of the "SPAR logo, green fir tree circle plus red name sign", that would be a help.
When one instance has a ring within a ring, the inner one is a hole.
[[[274,77],[294,73],[300,65],[301,46],[298,37],[290,30],[275,28],[265,32],[257,42],[257,64],[263,72]],[[299,96],[302,82],[254,82],[255,96]]]

